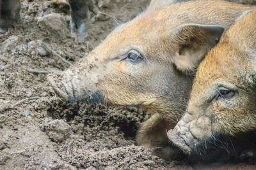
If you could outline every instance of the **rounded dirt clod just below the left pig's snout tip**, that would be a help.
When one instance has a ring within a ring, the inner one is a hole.
[[[54,142],[62,142],[69,138],[72,130],[64,120],[49,120],[45,122],[44,130]]]

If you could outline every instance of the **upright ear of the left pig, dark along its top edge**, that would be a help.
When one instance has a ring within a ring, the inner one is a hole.
[[[169,40],[177,69],[195,71],[206,53],[218,43],[224,30],[219,25],[186,24],[175,27]]]

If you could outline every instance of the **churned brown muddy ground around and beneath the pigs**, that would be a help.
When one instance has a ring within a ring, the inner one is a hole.
[[[76,62],[115,28],[115,18],[131,20],[148,4],[102,2],[103,15],[90,12],[89,37],[83,43],[68,30],[68,6],[46,0],[22,1],[19,24],[0,34],[0,169],[192,168],[134,145],[138,127],[149,116],[140,108],[63,103],[47,83],[47,74],[35,73],[66,69],[69,64],[57,55]],[[253,165],[221,168],[239,167]]]

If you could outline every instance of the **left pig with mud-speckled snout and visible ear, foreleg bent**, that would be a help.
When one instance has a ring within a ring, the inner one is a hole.
[[[152,113],[136,143],[163,153],[172,153],[166,130],[186,110],[198,63],[252,9],[226,1],[172,2],[153,0],[86,57],[47,78],[64,101],[140,106]]]

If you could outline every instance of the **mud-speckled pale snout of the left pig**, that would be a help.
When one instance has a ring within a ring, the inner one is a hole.
[[[86,78],[82,78],[70,73],[49,74],[47,77],[54,92],[70,103],[106,104],[105,97],[99,89],[92,83],[86,83]],[[87,82],[89,82],[88,80]],[[92,81],[90,81],[92,82]]]

